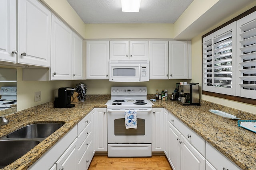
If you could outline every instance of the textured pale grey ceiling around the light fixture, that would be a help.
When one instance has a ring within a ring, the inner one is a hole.
[[[122,12],[121,0],[67,0],[84,23],[174,23],[193,0],[141,0],[140,12]]]

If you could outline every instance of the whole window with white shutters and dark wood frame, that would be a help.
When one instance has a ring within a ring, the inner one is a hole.
[[[202,94],[256,105],[256,6],[202,36]]]

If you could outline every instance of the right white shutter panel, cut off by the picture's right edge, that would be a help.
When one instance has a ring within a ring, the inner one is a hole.
[[[237,96],[256,99],[256,12],[237,22]]]

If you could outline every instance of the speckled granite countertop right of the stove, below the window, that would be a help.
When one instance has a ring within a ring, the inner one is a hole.
[[[256,115],[202,101],[202,106],[182,106],[176,101],[157,100],[153,107],[165,107],[210,145],[243,170],[256,170],[256,133],[238,127],[238,120],[224,119],[209,111],[225,111],[241,120],[256,120]]]

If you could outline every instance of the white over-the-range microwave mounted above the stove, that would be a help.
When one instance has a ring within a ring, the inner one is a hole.
[[[149,81],[148,60],[112,60],[109,64],[110,82]]]

